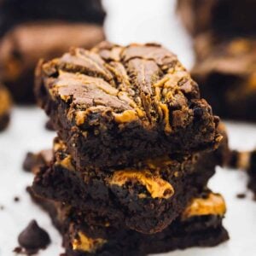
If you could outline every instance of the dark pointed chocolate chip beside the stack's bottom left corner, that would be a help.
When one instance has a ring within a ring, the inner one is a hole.
[[[20,233],[18,241],[27,254],[33,254],[38,253],[39,249],[45,249],[50,243],[50,238],[48,233],[40,228],[35,220],[32,220]]]

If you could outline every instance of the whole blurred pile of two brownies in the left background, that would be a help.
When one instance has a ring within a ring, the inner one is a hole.
[[[0,79],[15,101],[34,102],[34,67],[71,46],[90,49],[104,37],[99,0],[0,2]]]

